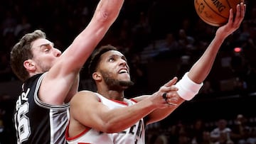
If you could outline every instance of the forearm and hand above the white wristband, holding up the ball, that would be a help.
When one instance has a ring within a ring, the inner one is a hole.
[[[228,35],[232,34],[240,27],[240,24],[245,17],[245,4],[238,4],[236,9],[237,13],[235,14],[235,18],[233,15],[233,10],[230,9],[230,17],[228,23],[218,28],[215,33],[215,38],[213,38],[212,42],[203,53],[201,58],[198,60],[198,62],[196,62],[193,67],[191,67],[191,70],[188,73],[188,77],[193,80],[193,82],[199,84],[206,79],[213,66],[213,62],[218,53],[218,50],[223,44],[223,41],[228,37]]]

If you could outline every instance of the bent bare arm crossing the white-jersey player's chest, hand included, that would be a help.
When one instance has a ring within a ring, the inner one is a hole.
[[[171,87],[176,81],[177,78],[171,79],[158,92],[147,96],[143,101],[117,109],[102,104],[94,92],[78,92],[70,101],[70,136],[77,135],[85,128],[95,128],[105,133],[124,131],[154,109],[169,107],[162,94],[176,91],[175,87]]]

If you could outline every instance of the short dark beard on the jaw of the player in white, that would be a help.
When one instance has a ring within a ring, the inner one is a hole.
[[[121,81],[121,80],[112,78],[110,74],[108,74],[107,72],[101,72],[101,73],[104,81],[107,84],[107,87],[111,90],[123,91],[124,89],[127,89],[128,87],[134,85],[134,82],[132,81]]]

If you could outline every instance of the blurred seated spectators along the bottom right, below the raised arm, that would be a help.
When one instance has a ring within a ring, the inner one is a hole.
[[[147,144],[255,144],[254,118],[238,114],[233,119],[216,121],[196,119],[191,123],[178,121],[174,125],[159,128],[147,127]]]

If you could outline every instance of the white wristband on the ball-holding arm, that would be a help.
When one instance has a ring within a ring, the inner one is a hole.
[[[196,84],[191,79],[189,79],[188,72],[186,72],[186,74],[183,75],[182,79],[179,80],[176,84],[176,87],[178,88],[178,95],[186,101],[193,99],[193,97],[198,94],[202,86],[203,82],[201,84]]]

